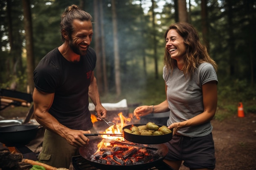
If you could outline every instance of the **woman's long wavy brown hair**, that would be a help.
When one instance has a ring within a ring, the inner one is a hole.
[[[210,57],[206,46],[202,45],[196,29],[186,22],[178,22],[171,24],[166,30],[164,38],[166,39],[168,31],[175,29],[180,36],[182,36],[186,46],[186,54],[184,56],[184,66],[182,71],[184,75],[191,77],[200,63],[208,62],[213,65],[217,71],[216,62]],[[168,49],[164,53],[164,65],[168,70],[173,71],[173,67],[177,66],[177,61],[171,58]]]

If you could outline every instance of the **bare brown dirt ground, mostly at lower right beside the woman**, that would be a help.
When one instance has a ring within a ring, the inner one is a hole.
[[[0,117],[11,118],[0,112]],[[15,113],[22,117],[27,113]],[[247,113],[245,117],[234,115],[223,121],[213,120],[213,139],[215,142],[215,170],[256,170],[256,114]],[[189,170],[182,166],[180,170]]]

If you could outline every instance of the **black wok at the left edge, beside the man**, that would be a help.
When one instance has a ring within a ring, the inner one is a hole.
[[[42,126],[38,125],[13,125],[0,128],[0,142],[5,146],[25,146],[32,141]]]

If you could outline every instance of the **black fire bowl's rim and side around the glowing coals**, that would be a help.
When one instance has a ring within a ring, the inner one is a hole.
[[[138,163],[138,164],[132,164],[132,165],[110,165],[106,163],[99,163],[95,161],[91,161],[91,156],[98,150],[99,142],[94,142],[93,140],[89,141],[89,144],[86,146],[81,146],[79,148],[80,155],[85,158],[88,162],[90,162],[90,165],[104,170],[131,170],[132,168],[151,168],[155,164],[159,163],[160,161],[164,160],[164,157],[168,153],[168,148],[165,144],[158,144],[158,145],[146,145],[151,148],[157,148],[156,153],[158,155],[162,155],[159,159],[156,159],[155,161],[146,162],[146,163]]]

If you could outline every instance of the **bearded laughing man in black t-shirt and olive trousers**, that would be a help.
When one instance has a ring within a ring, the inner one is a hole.
[[[91,20],[92,16],[78,6],[67,7],[61,16],[63,44],[45,55],[34,71],[34,115],[46,129],[38,160],[57,168],[69,168],[78,148],[89,142],[83,134],[96,133],[89,97],[100,117],[107,113],[94,77]]]

